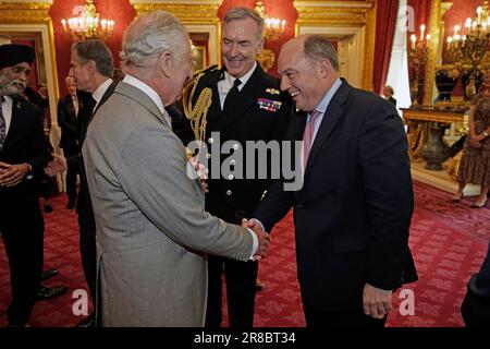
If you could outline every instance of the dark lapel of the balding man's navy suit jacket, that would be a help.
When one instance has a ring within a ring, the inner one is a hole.
[[[352,86],[343,80],[342,85],[339,87],[338,92],[330,100],[308,156],[308,163],[306,164],[305,169],[305,179],[309,170],[311,169],[311,166],[315,164],[315,160],[318,157],[318,154],[324,142],[327,142],[336,123],[343,116],[343,105],[347,101]]]

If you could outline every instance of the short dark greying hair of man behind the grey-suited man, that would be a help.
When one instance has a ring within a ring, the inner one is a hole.
[[[101,75],[112,77],[114,74],[112,52],[102,40],[88,39],[76,41],[72,45],[72,51],[76,52],[81,64],[93,60],[96,63],[97,71]]]

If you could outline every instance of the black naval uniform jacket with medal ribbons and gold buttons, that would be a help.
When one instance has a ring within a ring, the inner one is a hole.
[[[262,140],[267,143],[271,140],[284,139],[291,117],[291,99],[289,95],[279,94],[280,82],[278,79],[264,72],[260,65],[257,64],[256,70],[235,99],[231,115],[225,115],[220,106],[217,84],[222,79],[224,79],[223,70],[207,72],[199,80],[194,95],[194,101],[196,101],[203,88],[210,87],[212,89],[212,104],[208,111],[206,132],[209,152],[211,151],[211,144],[209,143],[211,132],[220,132],[221,145],[226,141],[237,141],[243,147],[245,147],[246,141]],[[272,89],[277,94],[271,93]],[[266,110],[259,107],[258,98],[278,100],[282,105],[277,111]],[[186,121],[186,125],[188,125],[188,121]],[[179,132],[176,133],[179,134]],[[186,145],[191,139],[194,139],[194,135],[181,139]],[[218,140],[215,141],[218,142]],[[226,158],[229,158],[229,155],[222,155],[220,164]],[[246,149],[243,149],[243,159],[245,158]],[[212,179],[212,170],[219,170],[219,168],[211,167],[211,161],[212,158],[209,161],[209,193],[206,194],[206,209],[229,222],[241,221],[242,218],[248,217],[270,185],[270,180]],[[257,161],[255,168],[257,172]],[[246,177],[246,171],[244,164],[244,178]]]

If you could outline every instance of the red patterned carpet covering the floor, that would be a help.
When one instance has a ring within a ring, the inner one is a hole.
[[[412,221],[411,246],[420,280],[409,285],[415,294],[415,315],[395,310],[389,326],[462,326],[460,305],[469,276],[478,270],[490,239],[490,206],[471,209],[468,202],[451,203],[451,195],[414,183],[416,208]],[[70,291],[57,299],[38,302],[33,326],[73,326],[82,320],[72,313],[75,289],[85,289],[78,254],[78,226],[73,210],[65,208],[64,195],[53,200],[54,212],[46,214],[45,269],[56,267],[60,275],[47,285],[66,285]],[[261,262],[259,278],[266,289],[257,293],[255,326],[304,326],[296,280],[294,237],[291,214],[272,232],[269,256]],[[0,243],[0,326],[7,324],[10,302],[9,268]]]

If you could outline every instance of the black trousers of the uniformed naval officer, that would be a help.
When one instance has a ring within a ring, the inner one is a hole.
[[[230,327],[253,327],[258,263],[238,262],[213,255],[208,260],[208,306],[205,326],[221,326],[223,270],[226,278]]]

